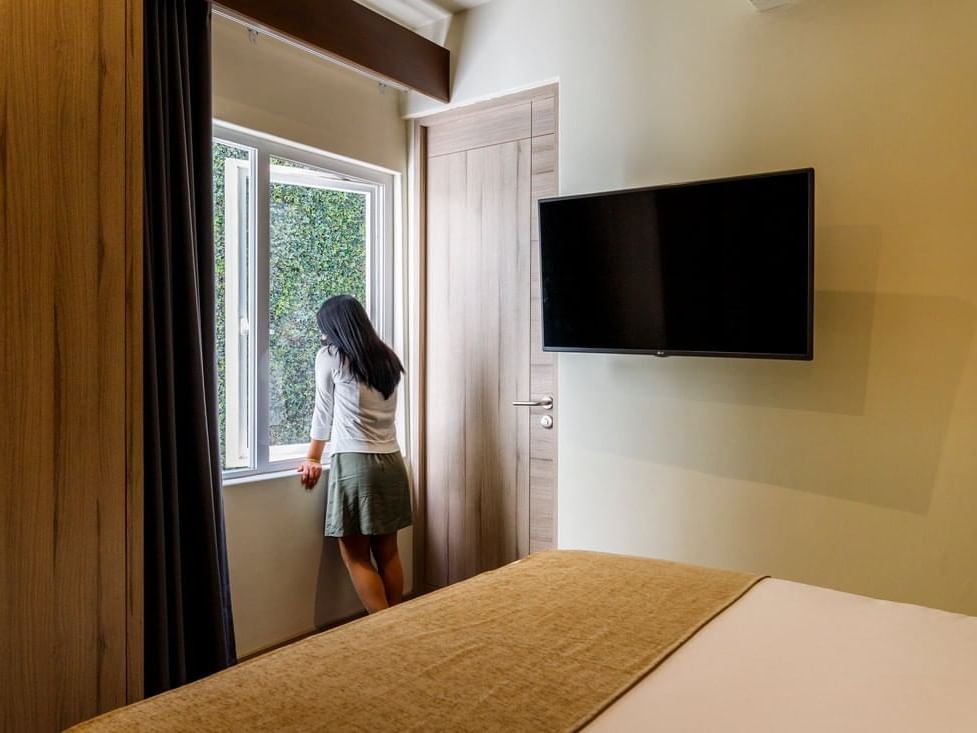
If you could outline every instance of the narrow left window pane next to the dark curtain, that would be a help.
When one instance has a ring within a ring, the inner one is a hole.
[[[252,311],[251,180],[254,151],[215,140],[214,258],[216,265],[217,410],[221,465],[252,465],[251,363],[249,321]]]

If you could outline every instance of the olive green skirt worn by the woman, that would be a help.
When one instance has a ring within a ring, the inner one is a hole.
[[[326,537],[409,527],[410,484],[400,453],[337,453],[326,488]]]

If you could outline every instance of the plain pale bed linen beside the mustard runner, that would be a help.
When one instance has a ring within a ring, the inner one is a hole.
[[[585,730],[977,733],[977,617],[764,580]]]

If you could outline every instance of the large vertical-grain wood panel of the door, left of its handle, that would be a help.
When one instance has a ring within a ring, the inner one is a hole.
[[[528,140],[429,161],[426,570],[433,586],[511,562],[529,547],[530,418],[512,401],[530,388],[531,166]]]

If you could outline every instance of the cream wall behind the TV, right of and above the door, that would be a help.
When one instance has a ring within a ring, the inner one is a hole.
[[[977,614],[975,42],[973,0],[458,16],[455,101],[559,78],[562,193],[817,169],[813,363],[561,356],[561,546]]]

